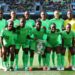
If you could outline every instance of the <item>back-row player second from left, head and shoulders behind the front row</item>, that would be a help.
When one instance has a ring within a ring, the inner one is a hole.
[[[17,19],[17,17],[16,17],[16,12],[15,12],[15,11],[11,11],[11,12],[10,12],[10,19],[8,20],[8,22],[9,22],[10,20],[14,22],[14,27],[15,27],[15,28],[19,26],[20,21],[19,21],[19,19]]]

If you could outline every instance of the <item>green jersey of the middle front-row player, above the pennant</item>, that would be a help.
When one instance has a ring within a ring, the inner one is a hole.
[[[31,41],[31,50],[36,50],[37,42],[39,42],[39,40],[45,40],[44,35],[45,35],[44,28],[41,28],[39,31],[36,28],[32,29],[31,37],[33,38],[33,40]],[[36,40],[34,40],[35,38]]]

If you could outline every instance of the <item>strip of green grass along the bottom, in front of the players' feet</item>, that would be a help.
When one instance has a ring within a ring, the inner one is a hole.
[[[74,71],[16,71],[16,72],[3,72],[0,75],[75,75]]]

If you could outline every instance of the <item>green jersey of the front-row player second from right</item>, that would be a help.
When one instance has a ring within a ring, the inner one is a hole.
[[[50,30],[47,32],[47,46],[49,47],[56,47],[60,45],[60,42],[58,41],[60,32],[54,32],[52,33]]]

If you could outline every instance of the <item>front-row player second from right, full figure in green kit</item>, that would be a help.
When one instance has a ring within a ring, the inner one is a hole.
[[[56,52],[57,54],[57,70],[61,70],[61,46],[58,41],[60,32],[56,29],[56,24],[51,24],[50,29],[47,31],[47,44],[46,44],[46,62],[47,68],[50,69],[50,54]],[[54,60],[54,59],[52,59]]]

